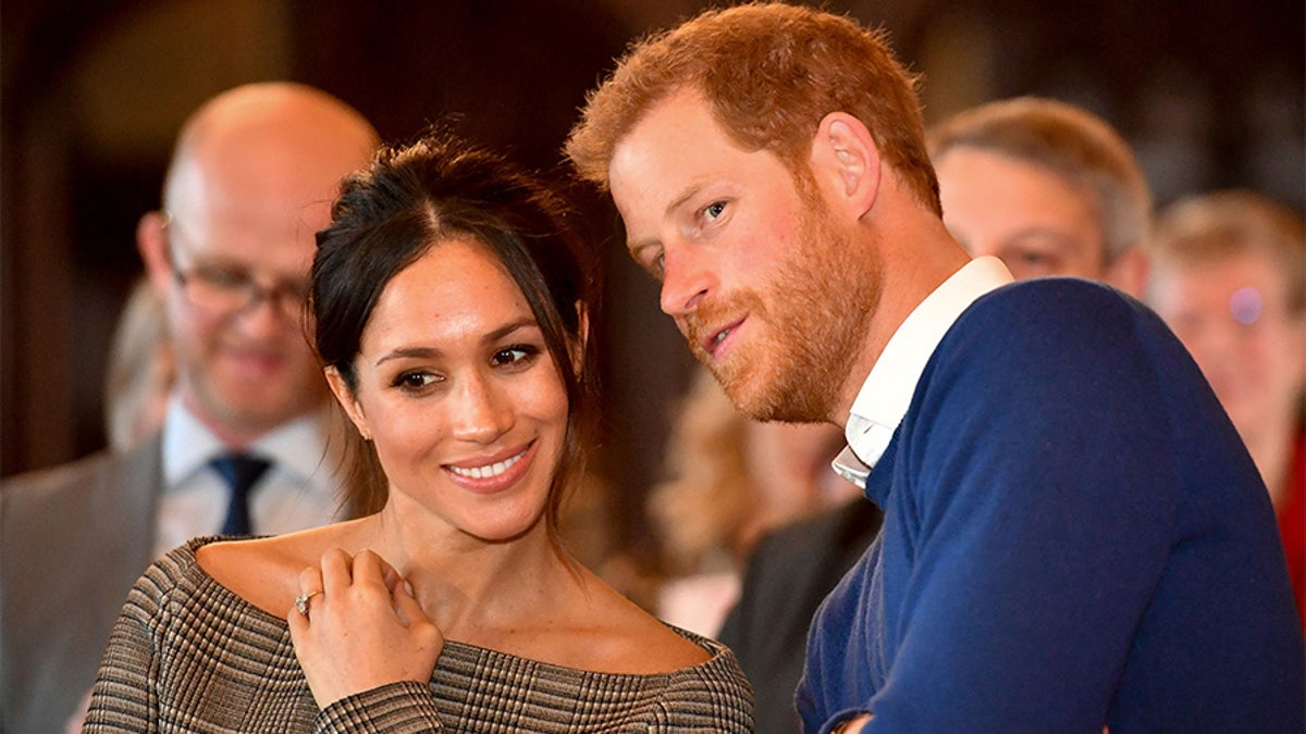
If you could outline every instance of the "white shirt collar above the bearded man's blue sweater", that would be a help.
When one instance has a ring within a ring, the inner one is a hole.
[[[1002,260],[976,257],[908,315],[884,345],[884,353],[853,401],[844,428],[848,447],[832,462],[835,471],[849,482],[866,486],[871,468],[902,422],[921,372],[943,334],[976,299],[1012,279]]]

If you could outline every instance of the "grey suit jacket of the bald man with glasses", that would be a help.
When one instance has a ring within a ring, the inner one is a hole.
[[[158,438],[0,485],[0,731],[63,731],[95,683],[162,487]]]

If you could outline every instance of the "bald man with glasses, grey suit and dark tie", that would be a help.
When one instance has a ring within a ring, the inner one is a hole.
[[[0,729],[80,716],[127,590],[165,550],[346,513],[342,417],[303,295],[337,185],[376,144],[357,111],[295,84],[229,90],[183,127],[163,210],[137,227],[176,368],[162,431],[0,490]]]

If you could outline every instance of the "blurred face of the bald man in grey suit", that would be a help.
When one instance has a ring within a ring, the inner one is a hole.
[[[325,381],[303,310],[286,293],[306,287],[313,234],[329,217],[326,200],[306,204],[312,200],[295,185],[253,187],[222,176],[183,187],[176,199],[167,226],[174,276],[247,279],[282,291],[279,304],[265,298],[214,308],[174,278],[168,319],[183,401],[219,434],[244,438],[320,405]]]

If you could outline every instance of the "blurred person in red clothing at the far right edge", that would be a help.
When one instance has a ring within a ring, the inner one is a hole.
[[[1306,223],[1250,191],[1179,200],[1157,217],[1148,302],[1247,444],[1279,517],[1306,624]]]

